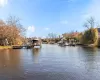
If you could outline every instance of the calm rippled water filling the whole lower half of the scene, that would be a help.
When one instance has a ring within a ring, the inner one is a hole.
[[[100,80],[100,49],[0,50],[0,80]]]

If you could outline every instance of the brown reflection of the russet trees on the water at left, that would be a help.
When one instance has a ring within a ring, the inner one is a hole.
[[[4,80],[1,75],[5,75],[5,78],[23,76],[20,54],[20,50],[0,50],[0,79]]]

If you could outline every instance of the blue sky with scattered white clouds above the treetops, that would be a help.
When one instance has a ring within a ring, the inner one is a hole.
[[[88,17],[100,22],[99,3],[100,0],[0,0],[0,19],[19,17],[28,37],[83,31]]]

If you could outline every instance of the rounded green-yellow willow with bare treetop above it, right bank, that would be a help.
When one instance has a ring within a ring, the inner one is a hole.
[[[95,20],[94,18],[90,18],[87,20],[85,24],[87,30],[83,34],[83,44],[95,44],[97,45],[98,42],[98,31],[95,28]]]

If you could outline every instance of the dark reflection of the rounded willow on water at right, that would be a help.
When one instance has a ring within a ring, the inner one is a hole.
[[[81,60],[84,62],[84,67],[88,72],[93,72],[97,68],[96,59],[98,56],[98,48],[83,48],[81,47],[80,51],[82,52]]]

